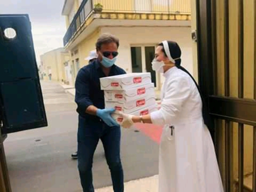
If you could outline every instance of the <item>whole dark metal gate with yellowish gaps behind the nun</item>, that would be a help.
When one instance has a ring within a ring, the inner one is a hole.
[[[256,0],[196,0],[196,9],[198,82],[225,191],[256,192]]]

